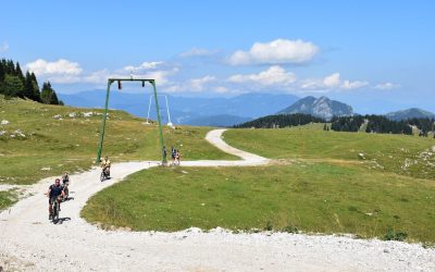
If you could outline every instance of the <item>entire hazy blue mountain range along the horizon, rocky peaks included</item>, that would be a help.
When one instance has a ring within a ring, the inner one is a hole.
[[[109,107],[125,110],[134,115],[146,118],[151,94],[129,94],[113,90]],[[198,126],[233,126],[273,114],[303,113],[331,120],[333,116],[355,115],[349,104],[331,100],[327,97],[311,96],[299,99],[293,95],[245,94],[231,98],[201,98],[167,96],[171,121],[174,124]],[[65,104],[86,108],[102,108],[105,91],[90,90],[74,95],[59,95]],[[156,119],[153,98],[150,119]],[[163,123],[167,123],[164,95],[159,96]],[[289,106],[290,104],[290,106]],[[283,110],[279,110],[283,109]],[[276,113],[277,112],[277,113]],[[435,114],[412,108],[385,114],[386,118],[400,121],[413,118],[435,119]]]

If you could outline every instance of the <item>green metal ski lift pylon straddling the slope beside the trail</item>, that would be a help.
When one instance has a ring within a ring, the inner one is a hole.
[[[109,108],[109,95],[110,95],[110,86],[112,83],[117,82],[117,87],[119,89],[122,88],[121,83],[122,82],[141,82],[142,87],[145,87],[145,83],[148,82],[152,85],[153,91],[154,91],[154,100],[156,100],[156,109],[157,109],[157,120],[159,123],[159,137],[160,137],[160,150],[162,153],[162,164],[166,164],[166,157],[164,154],[164,143],[163,143],[163,129],[162,129],[162,121],[160,118],[160,108],[159,108],[159,101],[157,98],[157,88],[156,88],[156,81],[154,79],[145,79],[145,78],[109,78],[108,79],[108,90],[105,92],[105,104],[104,104],[104,114],[102,115],[102,123],[101,123],[101,131],[100,131],[100,143],[98,145],[98,152],[97,152],[97,161],[96,163],[100,162],[101,159],[101,151],[102,151],[102,143],[104,140],[104,129],[105,129],[105,120],[108,119],[108,108]]]

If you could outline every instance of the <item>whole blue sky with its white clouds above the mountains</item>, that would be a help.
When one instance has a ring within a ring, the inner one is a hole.
[[[3,1],[0,58],[59,92],[109,76],[161,91],[328,96],[435,111],[434,1]],[[135,91],[134,88],[127,90]]]

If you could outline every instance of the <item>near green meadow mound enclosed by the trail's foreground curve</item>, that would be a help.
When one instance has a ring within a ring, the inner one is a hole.
[[[432,181],[353,165],[295,163],[141,171],[94,196],[83,215],[139,231],[269,225],[383,237],[393,228],[411,240],[435,242],[434,207]]]

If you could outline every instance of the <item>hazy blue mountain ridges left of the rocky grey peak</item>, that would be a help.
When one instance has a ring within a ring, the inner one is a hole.
[[[129,94],[112,90],[110,109],[125,110],[134,115],[146,118],[151,94]],[[231,98],[200,98],[167,96],[171,121],[174,124],[232,126],[260,116],[270,115],[277,109],[294,103],[299,98],[293,95],[245,94]],[[59,94],[67,106],[102,108],[104,90],[89,90],[74,95]],[[161,115],[167,123],[166,104],[159,96]],[[150,118],[156,119],[156,106],[152,98]]]

